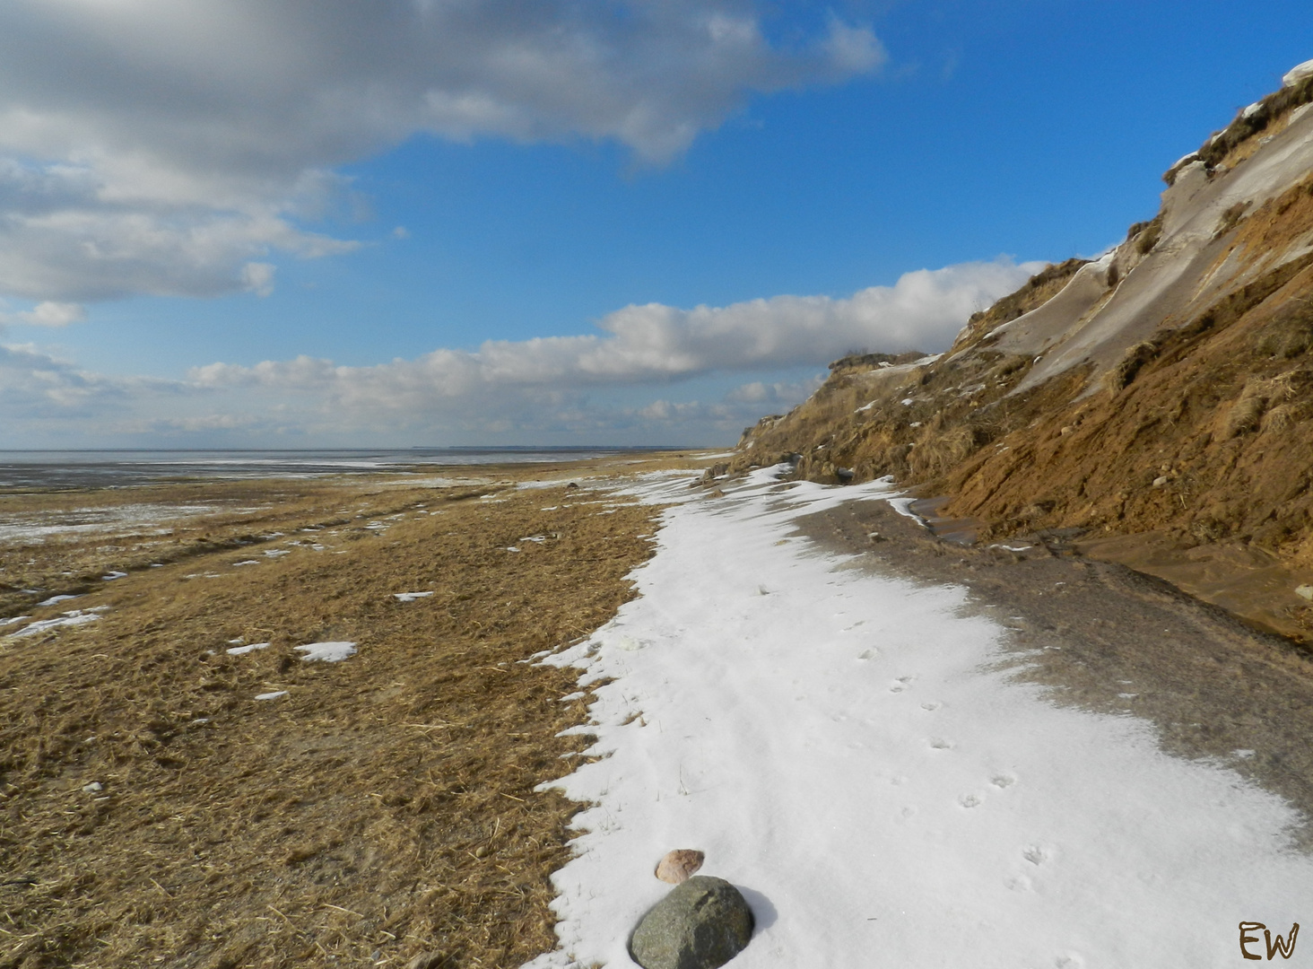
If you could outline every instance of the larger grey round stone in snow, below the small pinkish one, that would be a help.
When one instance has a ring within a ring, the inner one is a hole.
[[[695,874],[643,915],[629,953],[643,969],[716,969],[747,948],[752,910],[723,878]]]

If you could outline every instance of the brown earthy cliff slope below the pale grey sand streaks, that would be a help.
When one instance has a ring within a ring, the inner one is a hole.
[[[1310,227],[1313,176],[1241,219],[1215,259]],[[981,319],[1033,309],[1049,284]],[[1081,366],[1023,390],[1039,358],[973,345],[978,330],[922,366],[839,361],[811,399],[752,428],[731,467],[793,454],[814,481],[893,475],[952,495],[986,538],[1077,528],[1091,555],[1313,643],[1296,592],[1313,586],[1313,255],[1163,326],[1102,377]]]

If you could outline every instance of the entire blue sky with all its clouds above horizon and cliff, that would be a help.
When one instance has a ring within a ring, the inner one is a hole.
[[[729,444],[1309,58],[1284,0],[14,0],[0,446]]]

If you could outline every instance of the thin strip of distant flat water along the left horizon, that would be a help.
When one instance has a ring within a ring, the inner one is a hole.
[[[126,487],[179,479],[311,478],[435,465],[582,461],[641,448],[403,448],[378,450],[0,450],[0,490]]]

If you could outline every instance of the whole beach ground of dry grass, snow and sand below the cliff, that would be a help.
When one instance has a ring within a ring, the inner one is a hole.
[[[722,457],[4,498],[3,964],[626,965],[676,847],[746,969],[1299,919],[1301,651]]]

